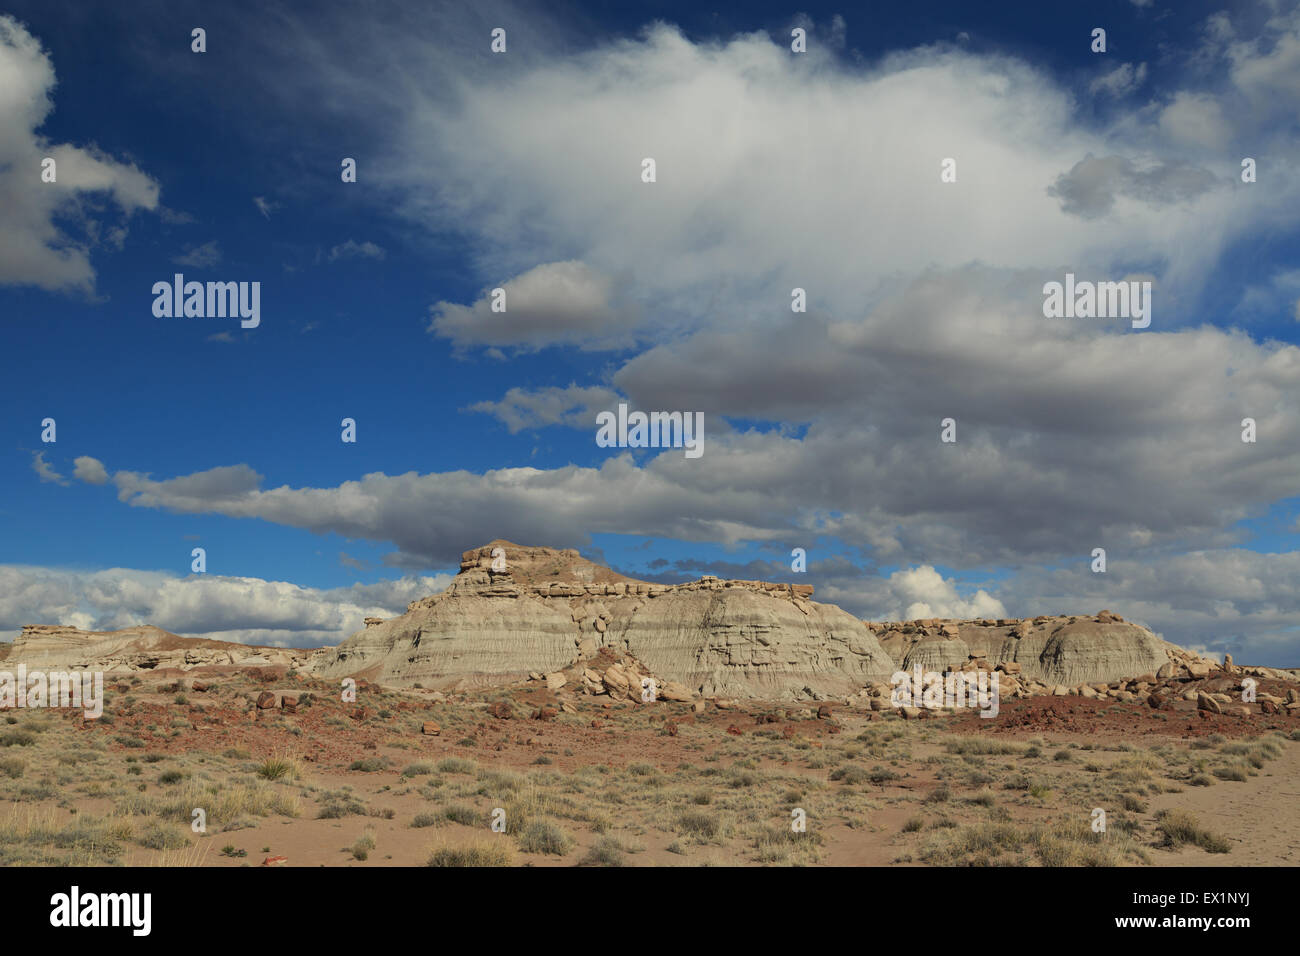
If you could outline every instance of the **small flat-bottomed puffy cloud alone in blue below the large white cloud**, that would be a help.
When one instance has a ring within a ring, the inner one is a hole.
[[[585,263],[545,263],[498,287],[504,291],[503,310],[493,310],[493,291],[472,306],[438,302],[429,332],[458,346],[614,349],[629,343],[636,310],[618,302],[610,276]]]

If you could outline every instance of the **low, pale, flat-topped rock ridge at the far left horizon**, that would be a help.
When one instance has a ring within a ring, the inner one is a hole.
[[[182,637],[160,627],[82,631],[62,624],[29,624],[12,644],[0,644],[0,665],[29,669],[134,672],[176,667],[292,666],[312,652],[256,648],[233,641]]]

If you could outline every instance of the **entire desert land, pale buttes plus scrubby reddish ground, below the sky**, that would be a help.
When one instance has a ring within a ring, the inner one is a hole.
[[[1110,611],[863,622],[493,541],[337,648],[36,624],[20,667],[107,700],[0,696],[0,864],[1300,862],[1297,675]],[[894,706],[898,670],[1001,706]]]

